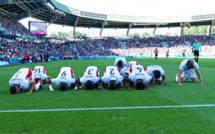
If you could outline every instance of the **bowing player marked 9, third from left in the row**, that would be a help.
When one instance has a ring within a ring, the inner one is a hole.
[[[51,83],[55,83],[60,86],[61,91],[65,91],[68,86],[75,87],[74,90],[77,90],[77,85],[75,85],[74,71],[70,67],[62,67],[57,78],[48,80],[48,84]],[[54,91],[52,88],[50,88],[50,90]]]

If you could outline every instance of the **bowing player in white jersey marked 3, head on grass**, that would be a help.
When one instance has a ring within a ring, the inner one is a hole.
[[[84,70],[84,76],[80,78],[80,82],[85,84],[87,90],[93,89],[94,87],[100,87],[99,84],[99,69],[96,66],[88,66]]]

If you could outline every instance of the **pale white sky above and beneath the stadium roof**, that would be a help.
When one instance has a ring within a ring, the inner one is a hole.
[[[180,15],[203,15],[214,14],[215,1],[213,0],[56,0],[69,7],[79,9],[81,11],[89,11],[102,14],[115,14],[115,15],[129,15],[129,16],[180,16]],[[28,17],[20,22],[28,28],[28,21],[40,21],[34,18]],[[60,26],[51,24],[47,27],[48,34],[52,32],[69,32],[73,30],[73,27]],[[177,32],[177,30],[171,29],[170,32]],[[99,29],[87,29],[77,28],[76,31],[83,33],[99,34]],[[98,31],[98,32],[97,32]],[[110,33],[123,34],[125,29],[114,31],[104,30],[106,35]],[[139,31],[139,30],[136,30]],[[151,30],[152,31],[152,30]],[[150,32],[151,32],[150,31]],[[161,30],[160,30],[161,31]],[[165,29],[165,32],[168,29]],[[131,30],[131,32],[135,32]]]

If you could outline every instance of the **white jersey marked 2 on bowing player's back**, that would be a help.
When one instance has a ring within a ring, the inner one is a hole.
[[[110,84],[110,81],[116,81],[115,84],[120,83],[123,77],[120,75],[120,69],[115,66],[107,66],[104,70],[104,76],[102,82]]]

